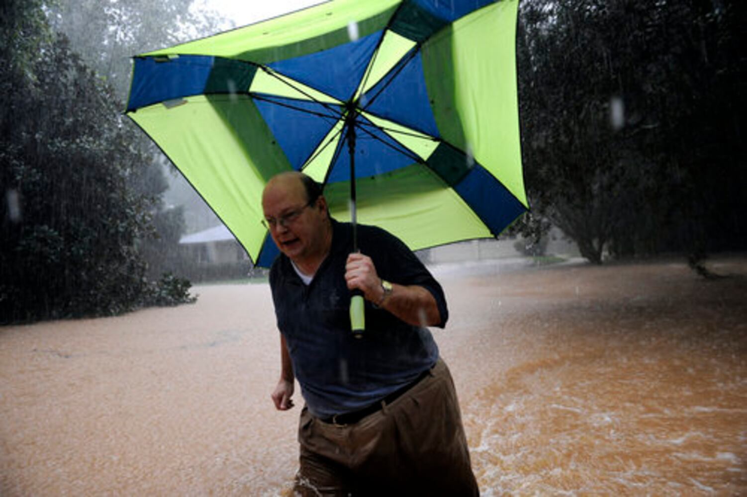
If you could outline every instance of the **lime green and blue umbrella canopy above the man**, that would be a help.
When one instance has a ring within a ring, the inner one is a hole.
[[[527,209],[518,0],[337,0],[134,57],[126,114],[269,266],[261,191],[300,170],[332,216],[417,250]],[[352,167],[351,167],[352,166]]]

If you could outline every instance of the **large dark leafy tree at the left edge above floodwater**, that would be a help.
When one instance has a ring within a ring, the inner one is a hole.
[[[133,187],[152,182],[136,131],[40,9],[8,1],[0,20],[0,322],[189,301],[183,282],[146,278],[137,246],[159,199]]]

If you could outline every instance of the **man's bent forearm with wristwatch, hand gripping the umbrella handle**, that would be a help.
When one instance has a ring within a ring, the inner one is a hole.
[[[433,294],[418,285],[392,284],[392,291],[384,298],[381,278],[373,260],[364,254],[350,254],[345,266],[345,280],[350,290],[359,289],[366,300],[379,305],[410,325],[436,326],[441,324],[441,313]]]

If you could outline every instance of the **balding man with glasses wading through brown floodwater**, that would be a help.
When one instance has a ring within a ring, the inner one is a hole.
[[[443,290],[400,240],[329,216],[300,172],[272,178],[262,207],[282,254],[270,270],[282,371],[275,407],[306,407],[295,490],[306,495],[473,496],[449,370],[424,326],[446,324]],[[391,282],[391,283],[390,283]],[[350,290],[364,293],[366,329],[350,331]]]

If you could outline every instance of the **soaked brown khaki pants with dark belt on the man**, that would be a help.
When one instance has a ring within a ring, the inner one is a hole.
[[[301,496],[477,496],[453,380],[443,360],[431,374],[353,425],[314,418],[298,431]]]

